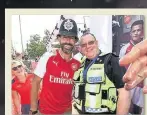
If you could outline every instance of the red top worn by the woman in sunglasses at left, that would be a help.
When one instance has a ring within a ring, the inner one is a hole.
[[[33,74],[27,74],[25,83],[19,82],[17,78],[12,80],[12,90],[19,93],[21,98],[21,104],[30,104],[30,93],[32,87]]]

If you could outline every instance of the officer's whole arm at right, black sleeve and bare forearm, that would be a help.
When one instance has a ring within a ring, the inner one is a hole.
[[[124,88],[122,77],[126,72],[125,67],[119,66],[119,58],[113,56],[112,61],[112,76],[115,87],[118,89],[117,114],[127,115],[130,107],[130,92]]]

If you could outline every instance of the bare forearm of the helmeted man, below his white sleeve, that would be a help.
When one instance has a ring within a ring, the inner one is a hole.
[[[31,108],[30,110],[36,111],[38,107],[38,91],[40,88],[41,78],[35,75],[32,81],[32,89],[31,89]]]

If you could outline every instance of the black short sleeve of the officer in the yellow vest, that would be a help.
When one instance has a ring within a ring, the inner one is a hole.
[[[115,85],[115,87],[118,88],[123,88],[124,87],[124,82],[122,80],[125,72],[126,72],[126,68],[122,67],[119,65],[119,57],[117,56],[113,56],[111,57],[111,66],[112,66],[112,79],[113,79],[113,83]]]

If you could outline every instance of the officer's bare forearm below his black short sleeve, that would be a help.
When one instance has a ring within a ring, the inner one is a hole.
[[[117,101],[117,115],[128,115],[131,103],[130,91],[125,88],[118,89],[118,101]]]

